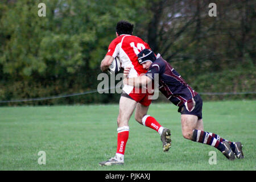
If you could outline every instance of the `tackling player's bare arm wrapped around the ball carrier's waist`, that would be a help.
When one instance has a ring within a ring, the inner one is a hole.
[[[141,87],[147,86],[147,84],[151,83],[152,80],[145,75],[134,78],[128,78],[127,76],[129,75],[130,69],[131,68],[125,68],[125,71],[123,71],[123,84]]]

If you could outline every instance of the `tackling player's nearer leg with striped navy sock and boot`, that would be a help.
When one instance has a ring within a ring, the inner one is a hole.
[[[203,123],[203,120],[201,123]],[[192,140],[194,142],[200,142],[213,146],[220,150],[222,154],[226,156],[226,158],[234,160],[235,155],[232,151],[232,148],[230,148],[230,144],[228,141],[220,142],[208,132],[196,129],[196,127],[202,127],[200,126],[200,123],[199,126],[197,126],[196,115],[181,114],[181,127],[184,138]]]

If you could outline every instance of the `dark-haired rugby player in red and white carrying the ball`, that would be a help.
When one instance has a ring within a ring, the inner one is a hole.
[[[138,77],[147,70],[138,63],[138,53],[142,49],[150,49],[148,44],[141,38],[132,35],[133,24],[120,21],[116,26],[115,38],[109,45],[108,53],[101,61],[101,71],[106,71],[115,57],[118,57],[122,68],[130,67],[129,77]],[[135,120],[144,126],[158,131],[163,143],[163,151],[168,151],[171,147],[171,131],[161,126],[154,117],[147,115],[151,100],[149,93],[142,92],[142,89],[134,86],[123,86],[123,93],[119,101],[119,114],[117,118],[117,151],[114,158],[99,163],[101,166],[112,166],[114,164],[123,164],[126,142],[129,138],[129,119],[135,110]]]

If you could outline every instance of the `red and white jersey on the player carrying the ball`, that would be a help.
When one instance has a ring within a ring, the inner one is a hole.
[[[118,57],[121,67],[131,67],[129,77],[138,77],[141,73],[146,73],[147,70],[143,68],[138,62],[138,53],[143,49],[150,49],[148,44],[141,38],[133,35],[122,34],[115,38],[110,44],[108,53],[106,55]],[[133,90],[133,86],[125,85],[123,90],[129,94]]]

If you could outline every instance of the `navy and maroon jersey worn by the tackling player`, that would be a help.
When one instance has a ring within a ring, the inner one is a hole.
[[[159,90],[176,106],[183,106],[187,101],[190,102],[197,95],[195,90],[191,88],[175,71],[172,66],[167,63],[160,55],[148,68],[146,76],[154,80],[155,73],[159,75]]]

